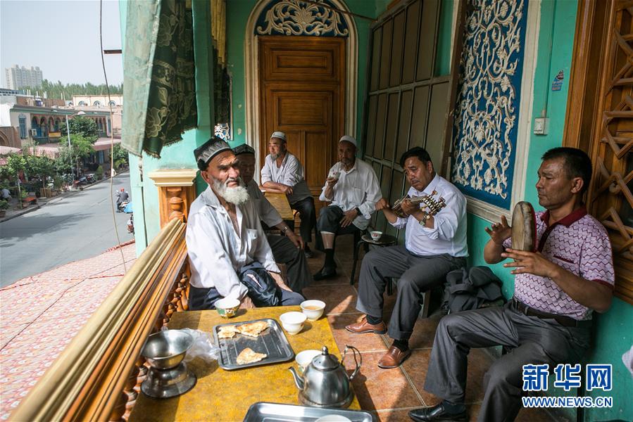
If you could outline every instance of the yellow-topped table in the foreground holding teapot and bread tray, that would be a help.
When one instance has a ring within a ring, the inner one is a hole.
[[[220,318],[215,310],[176,312],[169,328],[196,328],[211,332],[214,325],[226,324],[227,321],[273,318],[280,322],[279,316],[284,312],[300,310],[298,306],[240,310],[240,314],[230,320]],[[306,321],[299,334],[285,334],[295,354],[325,345],[341,359],[325,316],[318,321]],[[296,369],[294,360],[225,371],[217,362],[205,364],[194,359],[189,369],[198,377],[198,383],[192,390],[170,399],[153,399],[139,393],[129,421],[242,421],[251,404],[256,402],[299,404],[299,390],[288,371],[289,366]],[[356,397],[349,409],[361,409]]]

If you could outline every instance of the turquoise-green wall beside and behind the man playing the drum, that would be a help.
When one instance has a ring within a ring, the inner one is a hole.
[[[531,3],[531,5],[534,3]],[[568,82],[572,60],[573,37],[575,32],[576,1],[541,2],[541,21],[539,25],[539,57],[534,77],[534,103],[532,116],[541,115],[546,110],[549,117],[549,134],[529,139],[527,158],[527,182],[524,199],[537,204],[538,198],[534,185],[537,182],[537,169],[541,155],[549,148],[560,146],[563,139],[563,126],[568,97]],[[551,49],[551,54],[549,53]],[[565,73],[563,89],[551,91],[551,82],[559,70]],[[526,93],[522,93],[525,95]],[[538,208],[538,207],[537,207]],[[483,249],[489,236],[484,231],[489,222],[475,215],[468,215],[468,250],[470,265],[487,265],[483,260]],[[494,273],[503,281],[503,294],[510,298],[514,290],[514,276],[501,264],[491,266]],[[612,409],[587,409],[585,420],[605,421],[610,419],[633,420],[633,378],[622,364],[622,354],[633,344],[633,307],[619,299],[606,314],[598,315],[596,339],[587,362],[595,364],[613,364],[613,391],[590,392],[591,396],[613,397]],[[554,394],[562,394],[556,391]],[[575,411],[568,411],[570,416]]]

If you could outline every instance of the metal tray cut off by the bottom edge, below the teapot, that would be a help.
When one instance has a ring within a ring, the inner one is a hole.
[[[327,409],[323,407],[293,406],[258,402],[252,404],[244,416],[244,422],[311,422],[327,415],[345,416],[352,422],[372,422],[376,419],[368,411]]]

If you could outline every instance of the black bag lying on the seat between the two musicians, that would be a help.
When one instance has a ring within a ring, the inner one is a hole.
[[[442,309],[461,312],[503,303],[501,280],[489,267],[456,269],[446,274]]]

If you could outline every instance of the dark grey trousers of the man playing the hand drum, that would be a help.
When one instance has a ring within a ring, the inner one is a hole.
[[[439,321],[425,390],[451,402],[464,402],[468,352],[472,347],[503,345],[511,351],[484,376],[479,421],[513,421],[521,409],[522,366],[575,363],[589,347],[589,327],[567,328],[504,307],[476,309]]]

